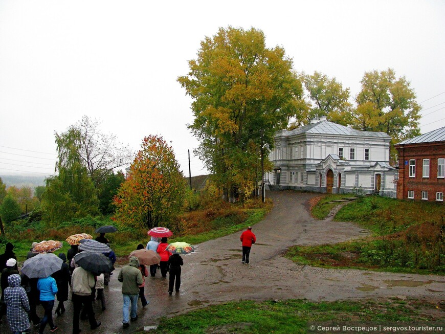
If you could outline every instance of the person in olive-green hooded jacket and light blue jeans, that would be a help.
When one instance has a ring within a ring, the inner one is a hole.
[[[138,320],[138,297],[139,297],[139,285],[142,284],[142,274],[138,269],[139,260],[136,256],[131,256],[127,265],[123,266],[118,281],[122,282],[122,297],[123,297],[123,327],[128,328],[131,321]],[[128,307],[131,303],[131,313],[128,312]]]

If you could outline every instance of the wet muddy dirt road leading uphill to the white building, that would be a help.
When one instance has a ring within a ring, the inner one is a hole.
[[[249,264],[241,263],[240,232],[199,244],[195,253],[183,256],[179,294],[168,295],[168,281],[162,279],[159,273],[155,278],[146,278],[146,295],[150,304],[144,309],[139,308],[139,320],[125,330],[122,328],[118,269],[106,291],[107,309],[101,311],[100,302],[95,302],[97,319],[102,321],[102,326],[94,332],[131,332],[155,325],[161,316],[240,299],[306,298],[334,301],[390,296],[429,301],[443,299],[443,276],[321,269],[295,265],[283,258],[281,253],[295,244],[341,242],[367,235],[368,231],[348,222],[311,218],[307,201],[315,194],[282,191],[268,195],[271,195],[275,205],[272,212],[253,227],[257,243],[252,247]],[[71,304],[67,304],[67,312],[55,317],[61,333],[70,333],[72,328]],[[81,328],[82,332],[89,332],[88,322],[82,322]],[[6,332],[4,330],[3,324],[0,331]],[[49,332],[49,329],[46,331]]]

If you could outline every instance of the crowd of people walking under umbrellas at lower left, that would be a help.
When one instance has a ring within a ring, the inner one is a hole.
[[[109,241],[105,234],[101,233],[96,241],[106,243]],[[168,246],[167,238],[161,240],[151,237],[151,240],[144,247],[139,244],[137,249],[148,249],[157,252],[161,257],[159,264],[147,266],[141,264],[136,256],[131,256],[127,265],[123,266],[118,275],[118,281],[122,283],[123,296],[123,327],[129,327],[130,321],[138,319],[138,300],[141,300],[142,307],[148,305],[145,297],[145,277],[150,274],[155,277],[160,269],[161,276],[167,277],[170,272],[168,292],[171,295],[173,286],[179,292],[181,286],[181,265],[184,264],[179,254],[171,254],[166,251]],[[36,242],[32,244],[27,254],[27,259],[36,256],[33,252]],[[71,301],[73,303],[73,333],[80,333],[80,320],[88,320],[90,328],[96,329],[101,322],[96,321],[93,309],[95,299],[101,301],[102,310],[106,310],[106,299],[104,285],[108,285],[112,273],[94,274],[84,270],[75,262],[75,255],[81,250],[74,244],[67,254],[59,253],[62,260],[59,271],[48,277],[28,278],[24,273],[20,273],[17,266],[17,257],[13,252],[14,246],[10,242],[6,244],[5,253],[0,255],[0,285],[2,296],[0,298],[0,322],[6,315],[8,324],[15,333],[30,331],[31,326],[38,328],[39,333],[49,325],[50,331],[55,332],[58,327],[53,320],[53,309],[56,299],[58,301],[55,314],[60,316],[65,312],[64,302],[69,300],[71,287]],[[116,255],[113,251],[106,253],[106,256],[114,264]],[[43,316],[37,315],[37,306],[41,305]]]

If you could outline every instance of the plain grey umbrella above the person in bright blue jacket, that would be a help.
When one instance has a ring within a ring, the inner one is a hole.
[[[21,272],[29,278],[44,278],[62,268],[63,260],[55,254],[37,254],[26,260],[21,267]]]

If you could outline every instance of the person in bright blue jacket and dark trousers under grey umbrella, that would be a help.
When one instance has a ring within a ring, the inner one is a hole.
[[[54,325],[53,322],[53,308],[55,296],[57,294],[56,280],[51,276],[39,278],[37,280],[37,290],[40,291],[40,304],[45,311],[40,322],[39,333],[43,333],[47,324],[50,324],[50,331],[55,332],[57,326]]]

